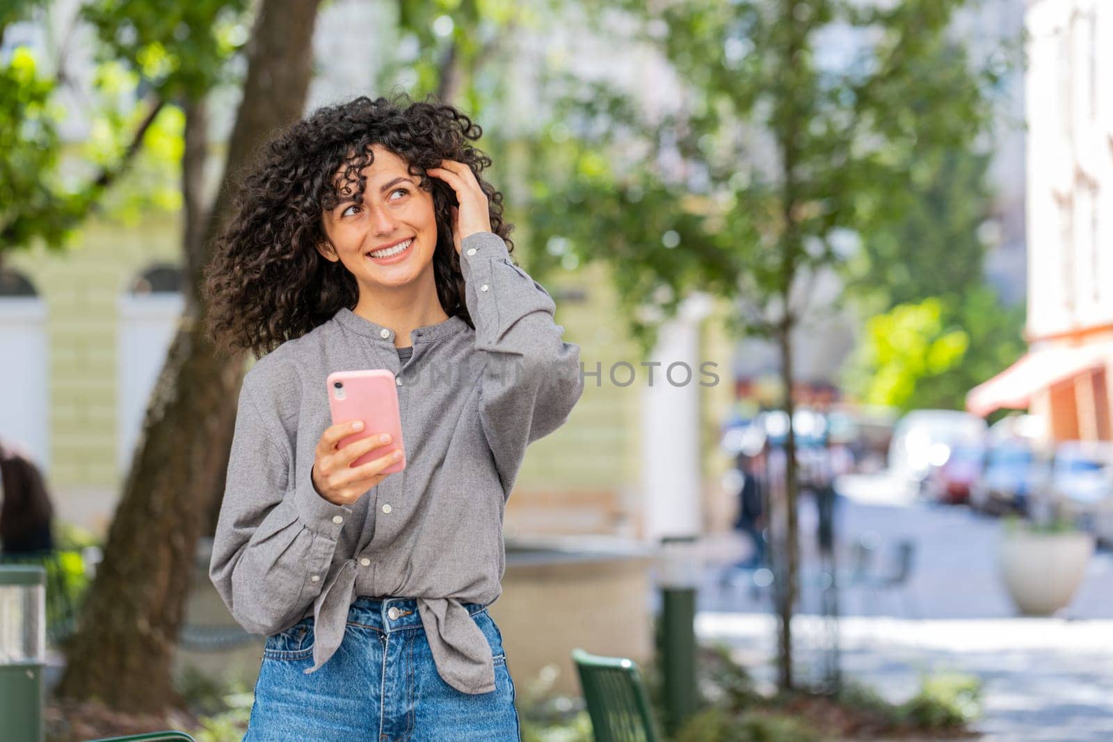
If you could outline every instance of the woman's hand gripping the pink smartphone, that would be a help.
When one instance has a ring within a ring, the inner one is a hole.
[[[385,456],[353,468],[352,462],[359,456],[391,442],[388,434],[376,433],[339,447],[342,438],[354,435],[361,429],[363,423],[359,421],[339,423],[325,428],[321,434],[321,441],[317,442],[316,457],[311,471],[313,486],[318,495],[334,505],[351,505],[359,499],[368,489],[390,476],[381,474],[383,469],[402,459],[402,452],[394,448]]]

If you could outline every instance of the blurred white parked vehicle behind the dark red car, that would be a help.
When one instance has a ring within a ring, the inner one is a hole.
[[[915,409],[897,423],[889,444],[889,471],[915,492],[925,492],[933,467],[943,466],[957,446],[981,446],[986,423],[957,409]]]

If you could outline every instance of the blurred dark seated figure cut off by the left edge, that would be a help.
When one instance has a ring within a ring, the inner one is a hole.
[[[28,453],[0,439],[0,553],[52,551],[52,518],[39,467]]]

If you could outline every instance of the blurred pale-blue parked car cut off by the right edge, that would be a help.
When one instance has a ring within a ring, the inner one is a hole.
[[[1113,444],[1061,443],[1037,488],[1032,514],[1040,522],[1057,515],[1099,541],[1113,543]]]

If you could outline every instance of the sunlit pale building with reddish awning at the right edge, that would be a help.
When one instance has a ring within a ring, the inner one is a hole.
[[[1027,407],[1050,441],[1109,441],[1113,4],[1034,0],[1025,26],[1030,352],[967,407]]]

